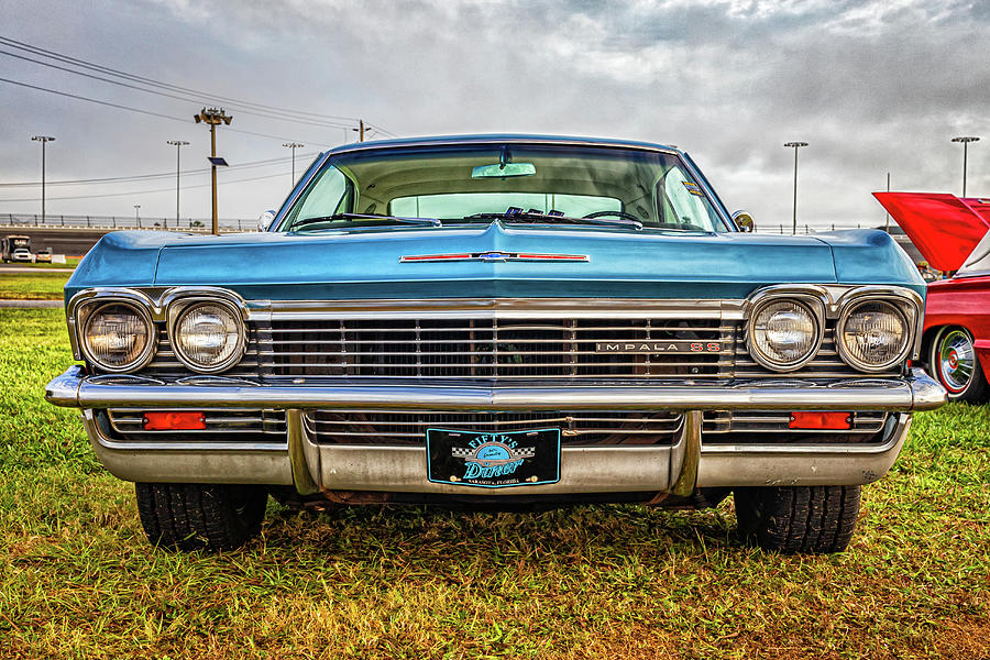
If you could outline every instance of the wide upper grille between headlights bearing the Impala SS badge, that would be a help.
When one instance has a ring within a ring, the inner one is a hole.
[[[718,319],[377,318],[257,328],[264,375],[348,378],[727,378],[734,337],[735,326]],[[600,350],[608,342],[638,345]]]

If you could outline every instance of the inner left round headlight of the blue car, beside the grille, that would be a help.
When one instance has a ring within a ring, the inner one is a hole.
[[[230,369],[244,354],[241,315],[224,302],[195,302],[172,323],[176,356],[199,373]]]

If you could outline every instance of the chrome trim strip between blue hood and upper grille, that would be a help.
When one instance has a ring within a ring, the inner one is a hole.
[[[692,318],[721,319],[741,311],[743,300],[691,298],[433,298],[425,300],[256,300],[250,320],[376,318]]]

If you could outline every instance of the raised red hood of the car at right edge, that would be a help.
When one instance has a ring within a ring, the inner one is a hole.
[[[990,230],[990,199],[946,193],[873,193],[928,265],[958,271]]]

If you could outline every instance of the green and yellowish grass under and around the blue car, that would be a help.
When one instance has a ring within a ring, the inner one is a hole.
[[[59,310],[0,310],[0,657],[986,658],[990,408],[919,415],[847,552],[705,513],[270,504],[261,539],[168,553],[42,391]]]

